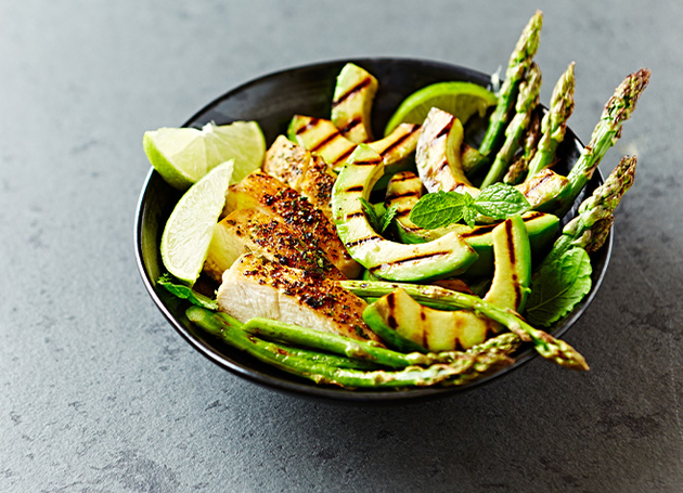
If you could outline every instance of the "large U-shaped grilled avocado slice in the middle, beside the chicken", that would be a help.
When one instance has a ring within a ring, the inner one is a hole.
[[[477,254],[455,233],[434,242],[404,245],[388,241],[372,229],[361,199],[368,199],[384,174],[384,167],[379,154],[359,144],[335,182],[332,213],[351,257],[372,274],[389,281],[424,282],[464,272],[476,261]]]

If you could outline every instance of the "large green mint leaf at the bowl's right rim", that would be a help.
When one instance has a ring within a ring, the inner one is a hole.
[[[531,282],[526,315],[531,325],[549,326],[569,313],[591,290],[591,259],[572,248],[545,265]]]

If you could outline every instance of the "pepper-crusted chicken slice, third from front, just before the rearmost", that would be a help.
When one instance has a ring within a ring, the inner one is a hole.
[[[294,189],[262,171],[254,171],[230,186],[223,215],[239,209],[258,209],[284,221],[306,245],[321,249],[347,277],[357,277],[361,267],[346,251],[335,225]]]

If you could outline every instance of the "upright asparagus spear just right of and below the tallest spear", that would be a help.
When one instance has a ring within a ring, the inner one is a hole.
[[[500,181],[510,167],[510,161],[519,148],[521,135],[531,121],[531,114],[539,104],[539,92],[541,90],[541,69],[536,63],[531,63],[527,77],[519,85],[519,95],[515,105],[515,116],[505,129],[505,142],[495,155],[495,160],[491,165],[481,187],[485,189],[497,181]]]

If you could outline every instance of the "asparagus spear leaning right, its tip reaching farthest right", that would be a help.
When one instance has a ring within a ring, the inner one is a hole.
[[[569,186],[558,197],[559,205],[555,212],[556,216],[562,218],[567,213],[583,186],[593,177],[593,172],[605,153],[617,143],[621,137],[623,122],[630,118],[635,109],[635,104],[648,81],[649,70],[642,68],[629,75],[616,89],[605,105],[600,121],[593,129],[591,142],[585,146],[567,176]]]

